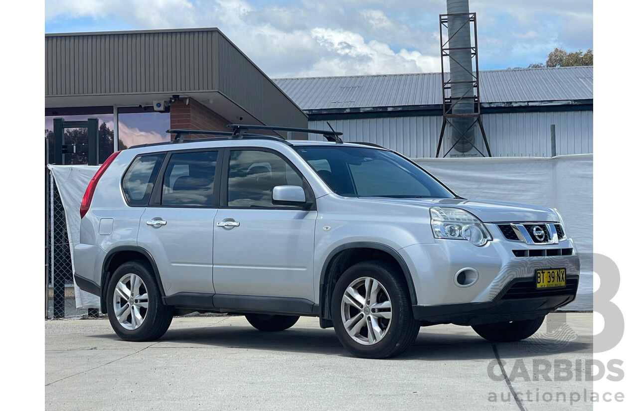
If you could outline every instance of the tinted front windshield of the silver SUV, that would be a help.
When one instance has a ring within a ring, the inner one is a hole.
[[[295,150],[340,196],[454,198],[423,169],[387,150],[348,146],[301,146]]]

